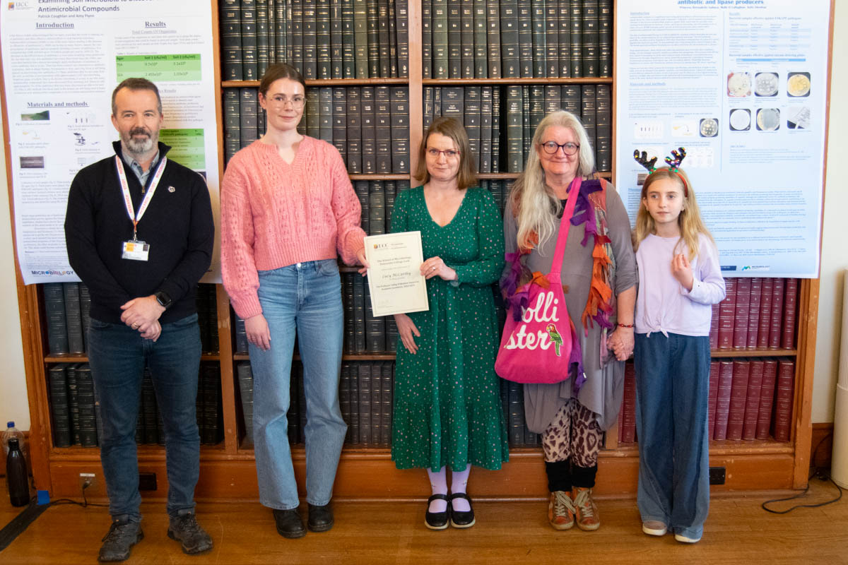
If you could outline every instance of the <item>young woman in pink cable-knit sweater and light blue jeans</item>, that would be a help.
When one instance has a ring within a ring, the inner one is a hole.
[[[312,531],[332,528],[332,484],[346,424],[338,405],[343,307],[337,252],[363,264],[360,202],[338,150],[302,136],[306,84],[271,65],[259,84],[266,132],[237,152],[221,183],[221,271],[244,319],[254,374],[259,501],[287,538],[305,535],[288,446],[294,336],[307,402],[306,501]]]

